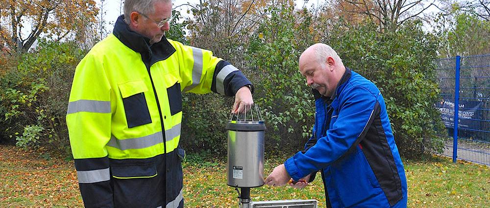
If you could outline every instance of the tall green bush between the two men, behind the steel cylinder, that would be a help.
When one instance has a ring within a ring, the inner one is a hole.
[[[312,16],[289,3],[271,6],[247,49],[257,85],[254,97],[266,120],[266,148],[297,150],[309,138],[315,104],[298,71],[299,55],[313,45]],[[291,20],[295,20],[291,22]]]

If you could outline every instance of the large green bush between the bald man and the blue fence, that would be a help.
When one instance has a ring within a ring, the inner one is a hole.
[[[343,58],[346,67],[372,80],[381,90],[400,153],[417,157],[429,146],[441,149],[436,133],[443,131],[434,108],[439,88],[434,82],[438,39],[407,22],[396,31],[379,32],[374,23],[338,23],[325,43]]]

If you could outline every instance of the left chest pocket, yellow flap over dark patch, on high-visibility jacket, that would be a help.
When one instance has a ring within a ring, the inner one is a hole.
[[[145,82],[133,81],[119,84],[123,97],[124,113],[127,127],[132,128],[151,123],[145,92],[148,91]]]

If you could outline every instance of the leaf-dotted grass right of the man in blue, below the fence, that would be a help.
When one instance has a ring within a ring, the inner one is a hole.
[[[488,166],[469,162],[454,164],[445,157],[433,160],[405,163],[409,207],[490,207],[490,194],[485,188],[490,184]]]

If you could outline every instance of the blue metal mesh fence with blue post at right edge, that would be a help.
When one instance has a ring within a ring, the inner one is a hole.
[[[490,54],[437,60],[442,155],[490,165]],[[455,114],[455,112],[458,112]],[[430,151],[430,150],[429,150]]]

